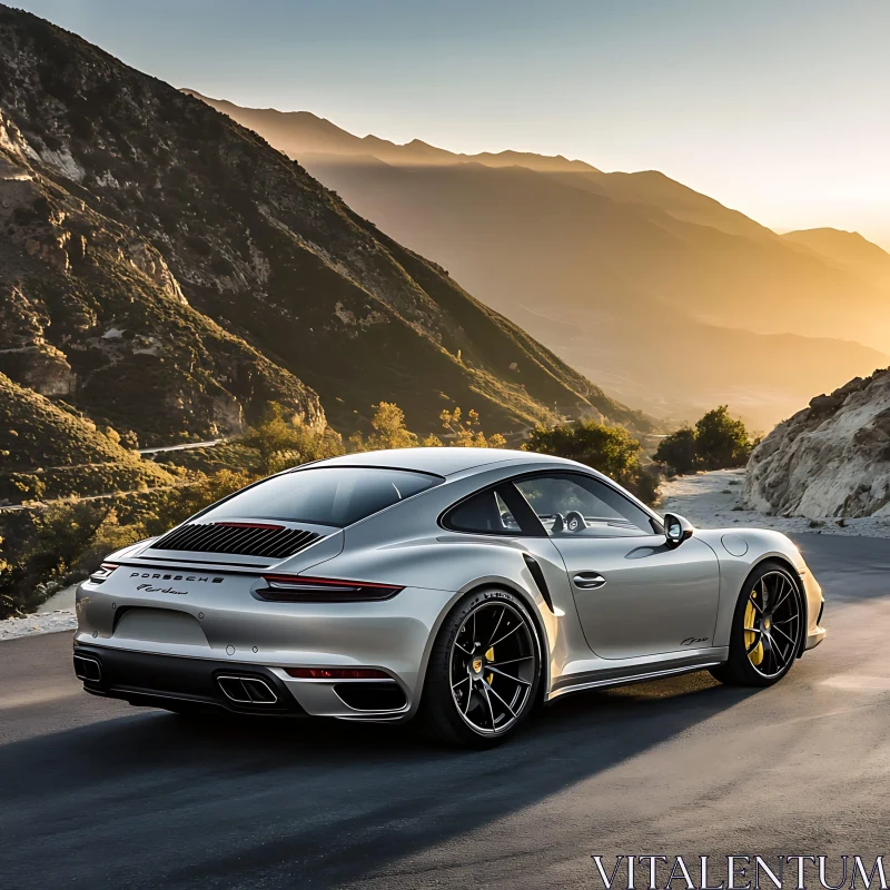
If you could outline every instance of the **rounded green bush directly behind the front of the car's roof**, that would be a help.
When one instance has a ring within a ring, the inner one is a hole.
[[[655,479],[641,462],[643,446],[623,427],[580,421],[532,431],[523,451],[567,457],[599,469],[642,501],[655,498]]]

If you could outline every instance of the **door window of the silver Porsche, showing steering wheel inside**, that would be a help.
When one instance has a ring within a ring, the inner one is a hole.
[[[553,474],[514,484],[551,537],[639,537],[655,533],[645,511],[590,476]]]

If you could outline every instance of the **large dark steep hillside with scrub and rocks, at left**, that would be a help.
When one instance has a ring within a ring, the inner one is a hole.
[[[256,134],[6,7],[0,165],[0,372],[144,444],[269,400],[346,433],[382,399],[423,432],[651,426]]]

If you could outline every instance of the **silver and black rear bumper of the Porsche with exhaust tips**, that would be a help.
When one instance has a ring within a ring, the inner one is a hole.
[[[229,581],[206,591],[182,584],[187,594],[166,599],[127,583],[81,584],[75,652],[82,666],[88,657],[99,665],[97,679],[81,678],[85,689],[134,704],[404,720],[419,702],[429,645],[456,596],[406,587],[377,602],[260,602],[249,583]],[[297,668],[366,668],[386,679],[290,676]],[[235,680],[220,686],[226,676]],[[239,682],[266,695],[251,678],[268,686],[269,701],[247,699]]]

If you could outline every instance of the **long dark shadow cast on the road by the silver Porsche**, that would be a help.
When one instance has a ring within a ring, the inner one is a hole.
[[[100,838],[120,886],[290,876],[284,886],[334,887],[534,805],[752,694],[706,673],[583,693],[484,752],[433,746],[409,726],[108,720],[0,749],[0,861],[39,858],[44,877],[86,880],[91,861],[75,851]]]

